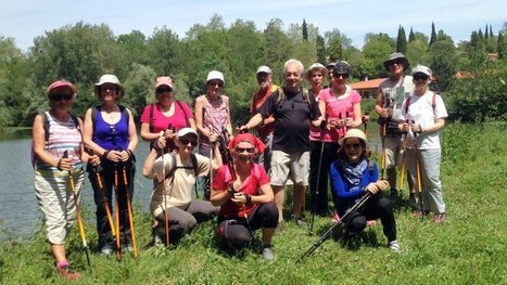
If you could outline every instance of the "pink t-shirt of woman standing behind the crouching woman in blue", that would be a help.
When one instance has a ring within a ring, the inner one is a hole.
[[[348,95],[346,95],[348,94]],[[345,96],[338,99],[331,94],[331,88],[320,91],[319,100],[326,103],[326,117],[328,122],[339,120],[340,118],[354,119],[354,105],[360,102],[360,95],[356,90],[346,87]],[[346,127],[340,129],[326,130],[324,133],[325,142],[338,142],[339,139],[345,135]]]

